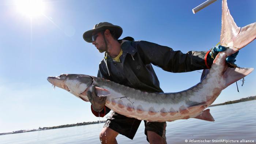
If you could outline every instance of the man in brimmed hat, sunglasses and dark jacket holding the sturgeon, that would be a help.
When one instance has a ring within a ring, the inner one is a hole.
[[[151,64],[169,72],[207,69],[211,67],[218,52],[226,50],[223,46],[216,46],[208,52],[190,51],[183,54],[156,43],[134,41],[131,37],[118,40],[122,33],[123,29],[120,26],[102,22],[95,24],[92,30],[86,31],[83,38],[86,42],[92,43],[99,52],[105,52],[99,64],[98,77],[147,92],[163,92]],[[235,61],[236,54],[229,57],[229,62]],[[95,116],[104,117],[110,111],[105,106],[106,97],[98,97],[95,86],[87,95]],[[117,143],[116,136],[119,133],[133,139],[140,122],[135,118],[113,112],[100,133],[101,143]],[[166,122],[144,121],[144,125],[148,142],[166,144]]]

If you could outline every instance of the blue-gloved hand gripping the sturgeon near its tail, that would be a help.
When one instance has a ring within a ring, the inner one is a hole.
[[[217,56],[217,54],[218,54],[219,52],[223,52],[223,51],[225,51],[227,48],[228,48],[228,47],[221,46],[221,45],[215,46],[213,49],[211,49],[211,52],[210,52],[211,58],[214,60],[215,57]],[[228,56],[228,57],[226,58],[226,62],[227,62],[228,64],[230,64],[231,66],[234,66],[234,65],[235,65],[234,62],[236,62],[235,58],[237,57],[238,52],[239,52],[239,51],[237,51],[237,52],[234,53],[234,54],[231,54],[230,56]],[[229,65],[229,66],[230,66],[230,65]]]

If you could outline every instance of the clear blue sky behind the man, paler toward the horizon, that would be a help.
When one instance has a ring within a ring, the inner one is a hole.
[[[103,54],[82,35],[99,22],[121,26],[123,34],[186,53],[208,50],[219,42],[221,0],[196,14],[204,0],[45,0],[43,15],[30,18],[14,0],[0,1],[0,133],[39,126],[97,121],[86,103],[53,87],[48,76],[80,73],[97,76]],[[256,21],[255,0],[228,0],[238,26]],[[240,50],[236,64],[256,68],[256,42]],[[165,92],[185,90],[200,81],[199,72],[170,73],[154,67]],[[256,95],[256,74],[222,91],[214,103]],[[106,118],[103,118],[104,120]],[[102,120],[102,119],[101,119]]]

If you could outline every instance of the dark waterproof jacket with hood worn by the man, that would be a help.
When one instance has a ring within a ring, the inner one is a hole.
[[[98,77],[142,91],[163,92],[151,64],[175,73],[207,69],[204,61],[207,52],[189,51],[184,54],[180,50],[174,51],[167,46],[147,41],[125,41],[121,49],[123,50],[121,62],[113,61],[105,53],[99,64]],[[207,61],[212,63],[211,58]],[[100,112],[100,116],[103,117],[109,111],[110,109],[106,107]],[[99,116],[93,109],[92,112],[95,116]]]

